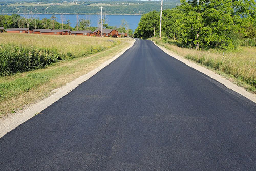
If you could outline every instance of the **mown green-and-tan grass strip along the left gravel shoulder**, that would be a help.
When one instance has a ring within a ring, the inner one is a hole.
[[[112,46],[93,55],[68,58],[44,69],[0,77],[0,117],[7,113],[15,113],[26,105],[48,97],[52,90],[97,68],[132,43],[132,39],[118,41],[118,46]]]

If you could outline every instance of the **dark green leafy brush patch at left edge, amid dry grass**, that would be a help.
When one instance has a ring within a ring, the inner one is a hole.
[[[54,49],[0,45],[0,76],[44,68],[61,60]]]

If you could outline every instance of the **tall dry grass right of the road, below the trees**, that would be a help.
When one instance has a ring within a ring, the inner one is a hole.
[[[176,52],[177,54],[228,78],[247,91],[256,93],[256,48],[240,47],[237,50],[225,52],[221,50],[198,51],[165,44],[158,38],[152,38],[157,44]]]

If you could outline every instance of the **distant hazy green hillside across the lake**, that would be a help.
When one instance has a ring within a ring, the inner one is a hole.
[[[1,14],[99,14],[100,6],[104,14],[141,15],[153,10],[160,10],[160,1],[15,1],[2,0]],[[164,9],[170,9],[180,1],[164,1]]]

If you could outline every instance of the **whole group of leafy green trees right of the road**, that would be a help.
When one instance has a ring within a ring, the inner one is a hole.
[[[170,43],[196,49],[234,49],[241,41],[256,38],[254,0],[181,0],[163,10],[162,36]],[[135,37],[159,36],[160,12],[141,17]],[[242,44],[243,45],[243,44]]]

